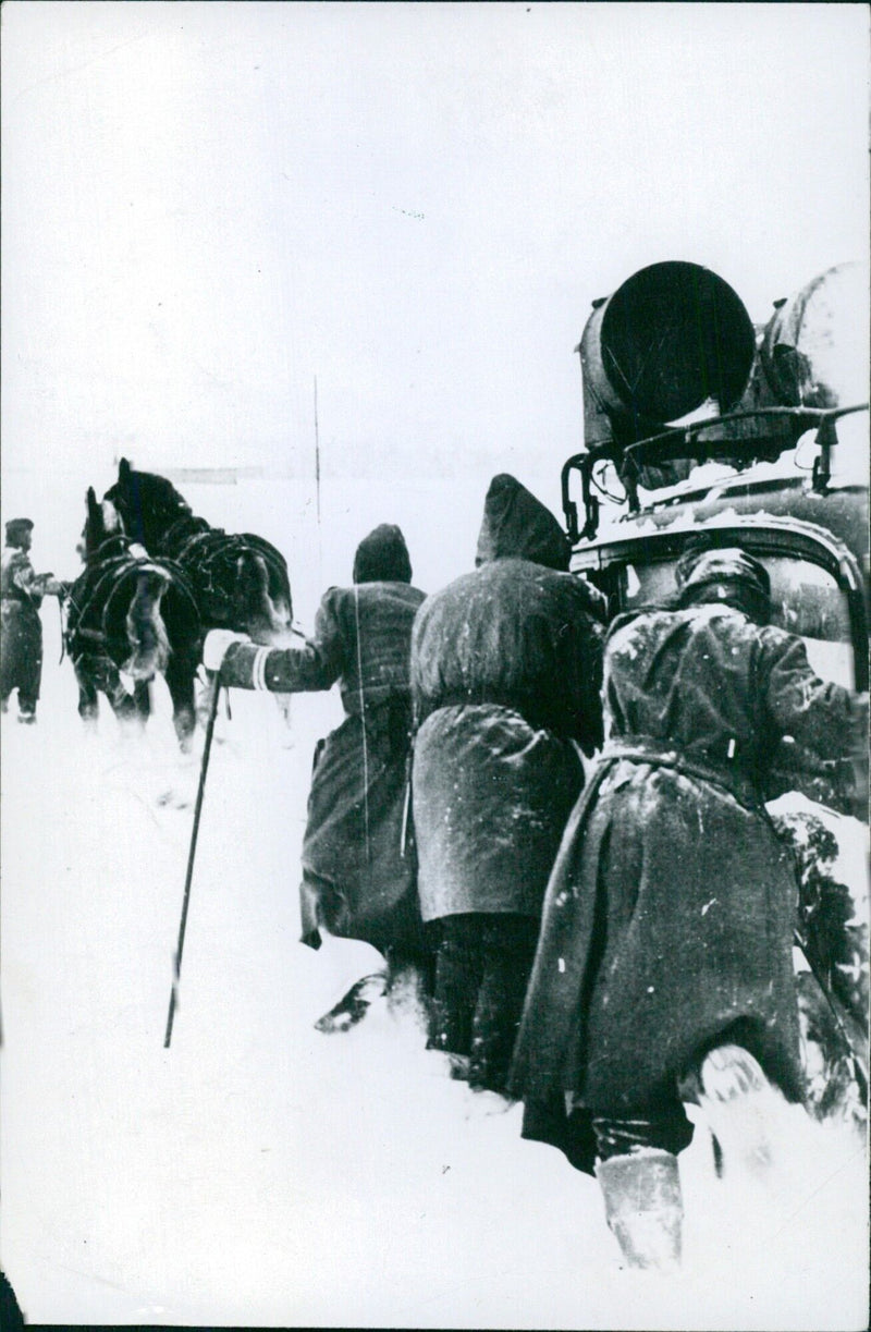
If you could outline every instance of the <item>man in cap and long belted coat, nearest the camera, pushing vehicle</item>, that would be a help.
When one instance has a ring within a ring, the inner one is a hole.
[[[661,1268],[681,1255],[682,1103],[727,1166],[758,1167],[772,1112],[802,1098],[798,886],[767,763],[784,734],[836,758],[867,731],[867,699],[767,623],[756,559],[694,550],[677,583],[673,605],[611,625],[607,739],[547,886],[511,1070],[527,1112],[570,1095],[562,1126],[527,1114],[525,1136],[595,1171],[626,1260]]]

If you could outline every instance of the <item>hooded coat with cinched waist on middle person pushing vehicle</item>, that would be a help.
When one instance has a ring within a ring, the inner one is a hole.
[[[529,492],[498,480],[485,509],[485,562],[428,597],[412,639],[425,920],[538,918],[583,783],[577,746],[591,751],[601,737],[595,594],[537,562],[549,558],[553,529],[565,538]],[[526,551],[531,558],[514,557]]]

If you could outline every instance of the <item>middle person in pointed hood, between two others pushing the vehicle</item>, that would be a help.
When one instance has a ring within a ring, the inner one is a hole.
[[[418,891],[438,940],[429,1044],[499,1092],[583,785],[578,746],[601,741],[602,601],[569,554],[553,514],[495,477],[478,567],[426,598],[412,637]]]

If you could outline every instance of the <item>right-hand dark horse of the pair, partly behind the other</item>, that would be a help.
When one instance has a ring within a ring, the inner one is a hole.
[[[135,472],[127,458],[104,500],[133,541],[184,569],[204,630],[233,629],[261,643],[280,643],[292,633],[288,565],[262,537],[212,527],[192,513],[170,481]]]

